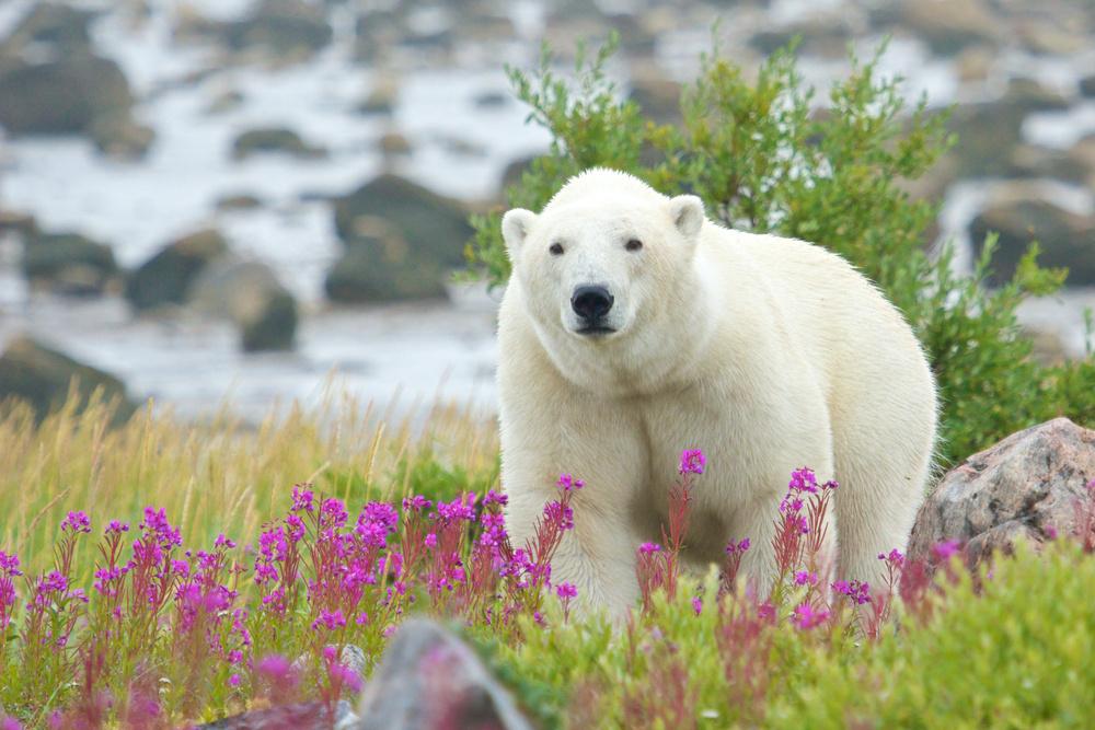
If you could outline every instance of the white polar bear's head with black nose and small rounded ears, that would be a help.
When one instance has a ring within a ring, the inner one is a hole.
[[[669,198],[598,169],[572,178],[539,216],[510,210],[502,231],[548,350],[580,357],[611,349],[620,361],[625,351],[631,359],[653,352],[694,314],[693,264],[705,221],[694,196]]]

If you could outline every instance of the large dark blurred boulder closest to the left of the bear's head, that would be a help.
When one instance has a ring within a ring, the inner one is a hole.
[[[335,225],[346,254],[326,290],[338,302],[443,297],[473,233],[460,204],[394,175],[337,200]]]

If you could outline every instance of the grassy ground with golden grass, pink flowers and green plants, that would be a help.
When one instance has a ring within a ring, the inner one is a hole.
[[[906,566],[897,598],[869,601],[815,576],[808,543],[752,592],[727,590],[730,559],[704,579],[648,553],[644,605],[616,626],[567,619],[538,567],[550,546],[505,544],[488,418],[438,407],[412,430],[343,397],[257,427],[108,416],[0,418],[0,717],[22,727],[351,698],[343,647],[374,667],[411,612],[463,633],[548,728],[1085,727],[1095,705],[1090,534],[977,578],[957,557],[934,580]],[[552,540],[572,518],[561,485]]]

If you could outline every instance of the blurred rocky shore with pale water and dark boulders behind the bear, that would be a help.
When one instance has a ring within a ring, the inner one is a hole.
[[[1039,240],[1070,276],[1024,326],[1047,361],[1084,354],[1093,0],[0,0],[0,397],[48,407],[77,372],[184,418],[332,383],[493,408],[500,292],[450,275],[550,142],[504,67],[546,42],[573,68],[613,30],[609,74],[659,121],[713,36],[747,70],[802,36],[819,104],[850,44],[889,37],[910,103],[957,105],[958,144],[909,183],[943,202],[925,245],[968,270],[999,231],[1010,278]]]

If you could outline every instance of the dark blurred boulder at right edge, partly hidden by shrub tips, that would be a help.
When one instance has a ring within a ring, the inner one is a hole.
[[[1041,266],[1068,267],[1068,286],[1095,285],[1095,217],[1077,216],[1039,198],[1003,198],[990,204],[970,223],[975,250],[980,252],[989,232],[1000,234],[989,286],[1011,280],[1031,241],[1041,246]]]

